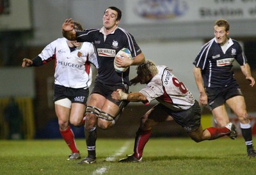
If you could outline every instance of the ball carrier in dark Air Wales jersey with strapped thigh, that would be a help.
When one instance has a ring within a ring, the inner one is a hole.
[[[92,164],[96,161],[97,126],[104,130],[113,126],[124,110],[125,103],[127,103],[111,98],[113,91],[122,89],[122,91],[128,92],[130,85],[129,68],[122,73],[116,72],[114,60],[116,65],[120,67],[140,65],[145,61],[145,57],[132,34],[118,27],[121,17],[122,11],[115,6],[111,6],[104,11],[103,27],[101,29],[74,31],[72,19],[65,20],[62,25],[63,36],[68,40],[93,43],[99,63],[95,86],[86,108],[84,133],[86,135],[88,156],[79,164]],[[124,56],[123,59],[119,57],[115,59],[116,54],[122,48],[129,49],[133,59],[129,59],[127,56]]]

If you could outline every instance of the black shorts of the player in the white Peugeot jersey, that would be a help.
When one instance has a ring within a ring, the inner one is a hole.
[[[89,89],[67,88],[65,86],[54,84],[54,102],[61,100],[63,98],[68,98],[72,103],[82,103],[86,105],[88,95]]]

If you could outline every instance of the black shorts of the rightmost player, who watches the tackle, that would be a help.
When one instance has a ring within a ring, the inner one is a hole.
[[[208,96],[208,104],[210,109],[214,109],[223,105],[229,98],[237,95],[243,96],[238,84],[223,88],[205,88]]]

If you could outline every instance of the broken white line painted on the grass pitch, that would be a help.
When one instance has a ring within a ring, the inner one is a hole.
[[[122,155],[124,153],[124,151],[129,147],[129,144],[131,144],[131,141],[125,142],[124,146],[122,146],[122,148],[120,148],[118,151],[116,151],[116,153],[113,156],[108,156],[106,158],[106,161],[114,162],[116,160],[116,156]],[[95,171],[93,171],[92,175],[104,174],[107,171],[108,171],[108,167],[100,167],[100,168],[96,169]]]

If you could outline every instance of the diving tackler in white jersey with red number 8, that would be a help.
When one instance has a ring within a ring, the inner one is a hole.
[[[152,127],[164,121],[175,121],[188,133],[195,142],[214,140],[234,133],[234,125],[228,123],[223,128],[206,128],[201,125],[201,109],[185,84],[173,75],[166,66],[156,66],[146,60],[137,66],[137,77],[131,84],[147,84],[140,92],[124,93],[121,89],[112,93],[115,100],[150,103],[157,100],[159,103],[148,110],[141,118],[140,128],[136,132],[134,153],[119,160],[119,162],[141,162],[143,149],[147,143]]]

